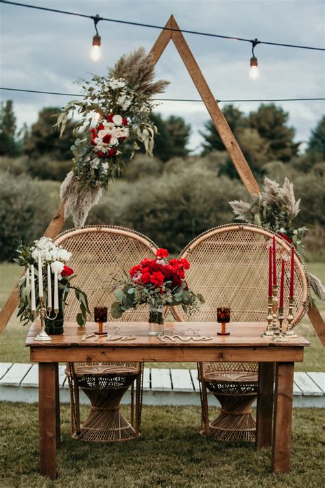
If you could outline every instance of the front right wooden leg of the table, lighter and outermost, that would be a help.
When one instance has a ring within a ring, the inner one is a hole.
[[[289,473],[294,363],[276,364],[272,471]]]

